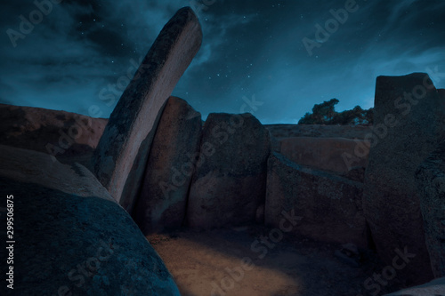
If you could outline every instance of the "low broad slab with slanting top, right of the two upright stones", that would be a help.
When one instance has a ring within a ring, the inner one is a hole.
[[[265,223],[323,242],[368,247],[363,184],[295,164],[272,153],[268,161]]]

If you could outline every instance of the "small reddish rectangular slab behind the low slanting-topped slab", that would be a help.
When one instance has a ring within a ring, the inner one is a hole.
[[[366,168],[368,145],[365,140],[295,137],[280,140],[280,153],[296,164],[346,173],[352,168]]]

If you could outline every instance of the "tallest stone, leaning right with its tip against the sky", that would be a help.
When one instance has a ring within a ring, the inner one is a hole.
[[[140,188],[158,113],[201,40],[199,21],[190,7],[176,12],[109,117],[93,159],[94,172],[128,212]]]

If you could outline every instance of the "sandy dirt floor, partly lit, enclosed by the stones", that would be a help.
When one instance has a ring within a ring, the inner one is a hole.
[[[270,228],[252,226],[184,229],[147,238],[183,296],[368,296],[401,288],[397,278],[385,286],[374,280],[365,284],[383,268],[373,252],[360,250],[353,258],[338,256],[339,244],[321,244],[290,234],[275,234],[275,243],[260,243],[261,236],[270,234]]]

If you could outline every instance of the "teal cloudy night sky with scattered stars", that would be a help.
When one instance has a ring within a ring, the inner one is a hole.
[[[108,117],[127,74],[174,12],[189,5],[199,10],[204,39],[173,94],[204,118],[240,113],[247,102],[254,109],[244,110],[263,124],[295,124],[332,98],[340,100],[337,111],[370,108],[380,75],[427,72],[445,88],[443,0],[36,3],[51,3],[52,11],[36,12],[32,0],[3,1],[1,103],[85,115],[96,106]],[[30,18],[34,28],[20,29]],[[329,36],[317,38],[320,27]]]

